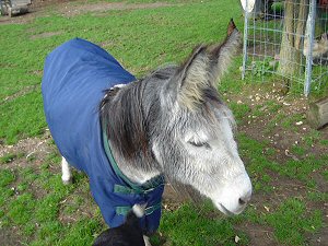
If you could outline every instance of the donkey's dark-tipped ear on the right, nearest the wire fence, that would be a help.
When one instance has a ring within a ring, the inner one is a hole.
[[[227,71],[232,58],[236,54],[241,43],[242,34],[236,28],[233,19],[231,19],[224,42],[208,48],[210,57],[209,73],[211,75],[211,83],[214,87],[216,87],[218,80],[220,80],[224,72]]]

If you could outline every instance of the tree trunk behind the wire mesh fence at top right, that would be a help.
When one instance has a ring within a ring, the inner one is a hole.
[[[278,72],[292,78],[303,72],[301,68],[302,39],[308,14],[308,0],[286,0],[284,9],[284,25],[280,47],[280,66]]]

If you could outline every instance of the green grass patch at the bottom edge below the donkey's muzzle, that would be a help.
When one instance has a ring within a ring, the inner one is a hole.
[[[185,204],[177,211],[164,213],[160,232],[172,245],[235,245],[236,235],[241,244],[248,243],[248,237],[236,232],[229,218],[215,215],[208,204],[200,212],[199,208]]]

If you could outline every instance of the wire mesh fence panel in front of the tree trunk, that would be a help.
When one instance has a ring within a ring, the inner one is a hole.
[[[328,83],[327,32],[328,0],[256,0],[245,11],[243,78],[305,95],[320,90]]]

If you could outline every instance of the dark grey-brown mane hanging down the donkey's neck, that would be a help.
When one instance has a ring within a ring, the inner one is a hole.
[[[140,167],[145,171],[149,166],[144,164],[155,161],[150,136],[161,110],[161,82],[167,81],[175,70],[176,66],[161,68],[121,89],[109,89],[101,103],[101,120],[112,147],[122,159],[133,161],[136,165],[142,163]]]

